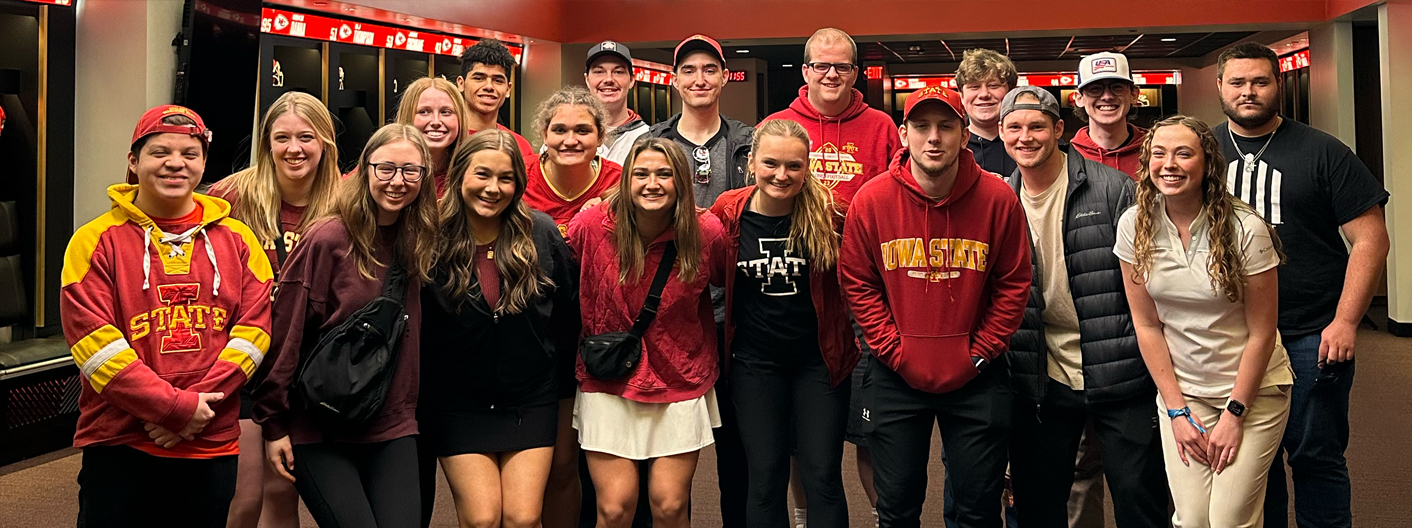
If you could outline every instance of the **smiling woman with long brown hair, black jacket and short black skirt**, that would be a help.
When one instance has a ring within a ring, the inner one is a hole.
[[[470,136],[449,182],[425,291],[422,446],[441,459],[462,527],[539,527],[556,363],[579,339],[579,267],[554,220],[522,200],[514,136]]]

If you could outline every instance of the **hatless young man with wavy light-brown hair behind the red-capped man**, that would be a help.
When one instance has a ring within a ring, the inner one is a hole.
[[[1010,158],[1000,140],[1000,102],[1018,82],[1015,64],[991,49],[966,49],[962,64],[956,66],[956,88],[962,92],[962,104],[970,117],[966,128],[970,140],[966,145],[976,155],[980,168],[1001,176],[1015,172],[1015,160]]]

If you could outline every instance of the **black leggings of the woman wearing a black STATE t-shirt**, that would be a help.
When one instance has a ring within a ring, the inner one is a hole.
[[[786,496],[789,455],[796,452],[809,527],[846,528],[843,431],[851,385],[829,387],[829,368],[818,352],[798,366],[737,356],[730,363],[730,383],[750,464],[746,525],[794,525]]]

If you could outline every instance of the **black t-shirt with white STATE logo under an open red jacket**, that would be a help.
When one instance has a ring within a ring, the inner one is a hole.
[[[819,354],[809,258],[789,248],[789,216],[741,215],[733,313],[737,354],[775,361]]]

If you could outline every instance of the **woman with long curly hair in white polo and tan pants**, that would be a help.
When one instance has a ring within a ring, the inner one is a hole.
[[[1200,120],[1158,123],[1141,160],[1113,253],[1171,418],[1161,432],[1176,521],[1260,527],[1293,383],[1275,332],[1279,239],[1227,192],[1226,160]]]

